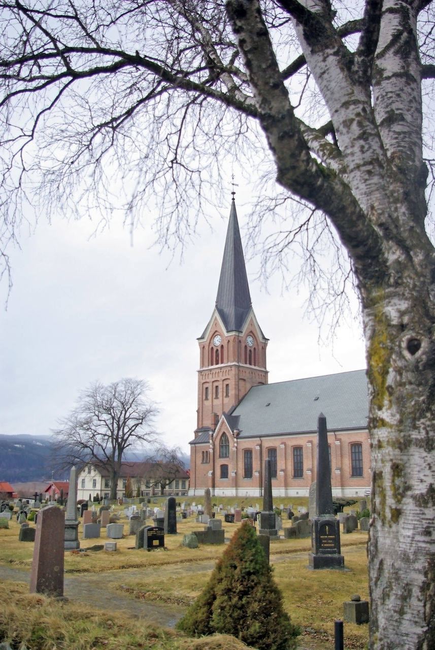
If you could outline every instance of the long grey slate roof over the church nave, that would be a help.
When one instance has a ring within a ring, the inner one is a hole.
[[[238,437],[310,433],[323,412],[328,430],[366,429],[366,370],[254,386],[232,411]],[[230,422],[229,422],[230,426]]]

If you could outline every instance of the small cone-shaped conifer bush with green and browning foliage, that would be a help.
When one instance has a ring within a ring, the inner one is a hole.
[[[232,634],[258,650],[292,650],[298,627],[282,606],[255,529],[242,523],[208,584],[177,623],[189,636]]]

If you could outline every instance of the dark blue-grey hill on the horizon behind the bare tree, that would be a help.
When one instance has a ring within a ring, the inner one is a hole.
[[[125,454],[125,460],[142,460],[143,451]],[[53,438],[50,435],[0,434],[0,481],[24,483],[51,481]],[[184,467],[190,466],[190,458],[183,454]],[[56,480],[68,480],[69,472],[55,473]]]

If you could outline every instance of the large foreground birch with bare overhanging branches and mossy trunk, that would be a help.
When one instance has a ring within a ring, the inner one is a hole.
[[[190,208],[201,209],[192,193],[216,199],[229,154],[252,173],[258,161],[265,181],[276,174],[277,201],[297,196],[312,210],[287,213],[272,252],[310,239],[315,219],[342,242],[371,399],[369,643],[433,647],[435,254],[425,189],[434,156],[423,117],[433,109],[434,3],[0,7],[3,255],[32,201],[103,220],[124,210],[131,222],[145,201],[158,203],[160,240],[182,240],[197,218]]]

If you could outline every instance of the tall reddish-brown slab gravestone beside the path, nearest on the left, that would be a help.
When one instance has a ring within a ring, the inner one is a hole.
[[[30,593],[64,595],[64,513],[56,506],[43,508],[36,524]]]

